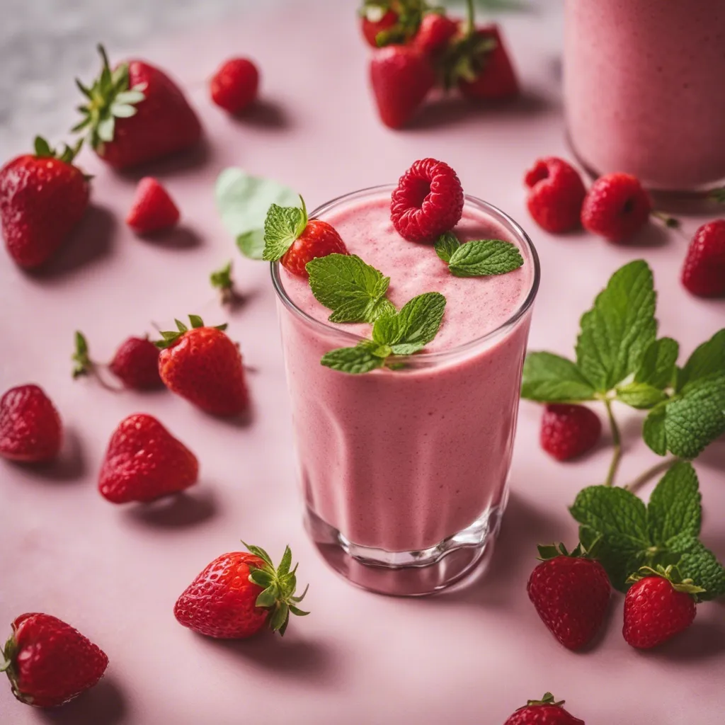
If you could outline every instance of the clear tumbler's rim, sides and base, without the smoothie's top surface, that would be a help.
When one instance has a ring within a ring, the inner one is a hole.
[[[312,216],[393,188],[341,196]],[[518,242],[534,270],[530,289],[496,330],[409,357],[401,370],[354,376],[320,365],[360,338],[300,310],[272,268],[307,530],[336,571],[390,595],[429,594],[473,571],[492,551],[508,498],[539,260],[508,215],[471,196],[465,204]],[[371,402],[376,424],[361,425]]]

